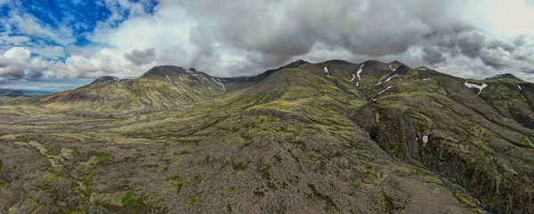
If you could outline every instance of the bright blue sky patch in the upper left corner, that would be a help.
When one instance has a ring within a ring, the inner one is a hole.
[[[144,12],[153,13],[157,1],[130,1],[140,3]],[[113,20],[109,20],[113,15]],[[99,22],[108,23],[111,28],[117,28],[120,23],[130,18],[130,9],[121,6],[117,1],[85,1],[85,0],[20,0],[0,6],[0,19],[9,20],[12,15],[19,15],[23,19],[25,14],[35,18],[44,28],[52,28],[61,33],[61,28],[72,31],[74,41],[71,45],[83,47],[92,44],[86,37],[91,34]],[[117,16],[118,14],[118,16]],[[0,31],[7,31],[0,25]],[[29,36],[34,44],[46,46],[65,46],[63,40],[53,41],[45,36],[23,35],[22,30],[12,24],[10,36]],[[2,45],[0,43],[0,45]],[[2,48],[0,46],[0,48]],[[9,49],[4,47],[3,49]],[[69,56],[69,53],[65,54]]]

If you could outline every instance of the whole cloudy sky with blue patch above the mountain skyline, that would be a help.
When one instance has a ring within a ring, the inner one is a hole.
[[[400,60],[534,82],[534,0],[0,0],[0,78]]]

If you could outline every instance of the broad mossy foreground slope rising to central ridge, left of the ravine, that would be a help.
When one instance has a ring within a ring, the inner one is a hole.
[[[480,211],[460,186],[377,147],[349,119],[367,105],[348,79],[305,64],[139,123],[134,113],[77,117],[0,106],[10,116],[2,125],[16,124],[0,132],[0,198],[7,199],[0,209]]]

